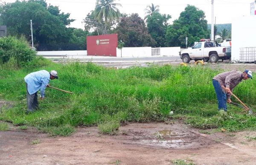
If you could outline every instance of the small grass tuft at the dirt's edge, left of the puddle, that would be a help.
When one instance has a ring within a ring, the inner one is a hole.
[[[98,125],[100,133],[116,135],[120,124],[116,121],[108,121]]]

